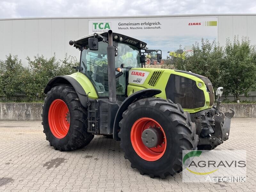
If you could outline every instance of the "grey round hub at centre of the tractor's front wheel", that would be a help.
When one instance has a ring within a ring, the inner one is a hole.
[[[164,135],[160,127],[148,128],[142,132],[142,142],[148,148],[153,148],[163,143]]]

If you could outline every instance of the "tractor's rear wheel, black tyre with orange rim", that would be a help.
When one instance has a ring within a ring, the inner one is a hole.
[[[56,150],[82,148],[94,137],[87,132],[87,111],[70,85],[55,86],[47,93],[42,117],[46,140]]]

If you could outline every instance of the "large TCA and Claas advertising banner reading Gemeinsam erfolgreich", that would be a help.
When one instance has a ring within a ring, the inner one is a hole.
[[[217,40],[217,27],[217,17],[89,20],[89,34],[111,29],[146,42],[148,49],[161,49],[163,59],[191,54],[192,45],[201,38]]]

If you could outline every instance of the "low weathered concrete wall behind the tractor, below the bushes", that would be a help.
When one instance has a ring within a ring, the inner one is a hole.
[[[42,120],[43,103],[0,103],[0,120]],[[221,104],[221,110],[235,110],[234,117],[256,117],[256,104]]]

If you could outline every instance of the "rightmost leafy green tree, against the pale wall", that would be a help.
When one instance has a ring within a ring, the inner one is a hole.
[[[225,47],[225,65],[222,66],[224,88],[231,93],[236,100],[239,95],[248,96],[248,92],[256,87],[256,49],[250,45],[248,37],[235,36],[233,43],[227,39]]]

